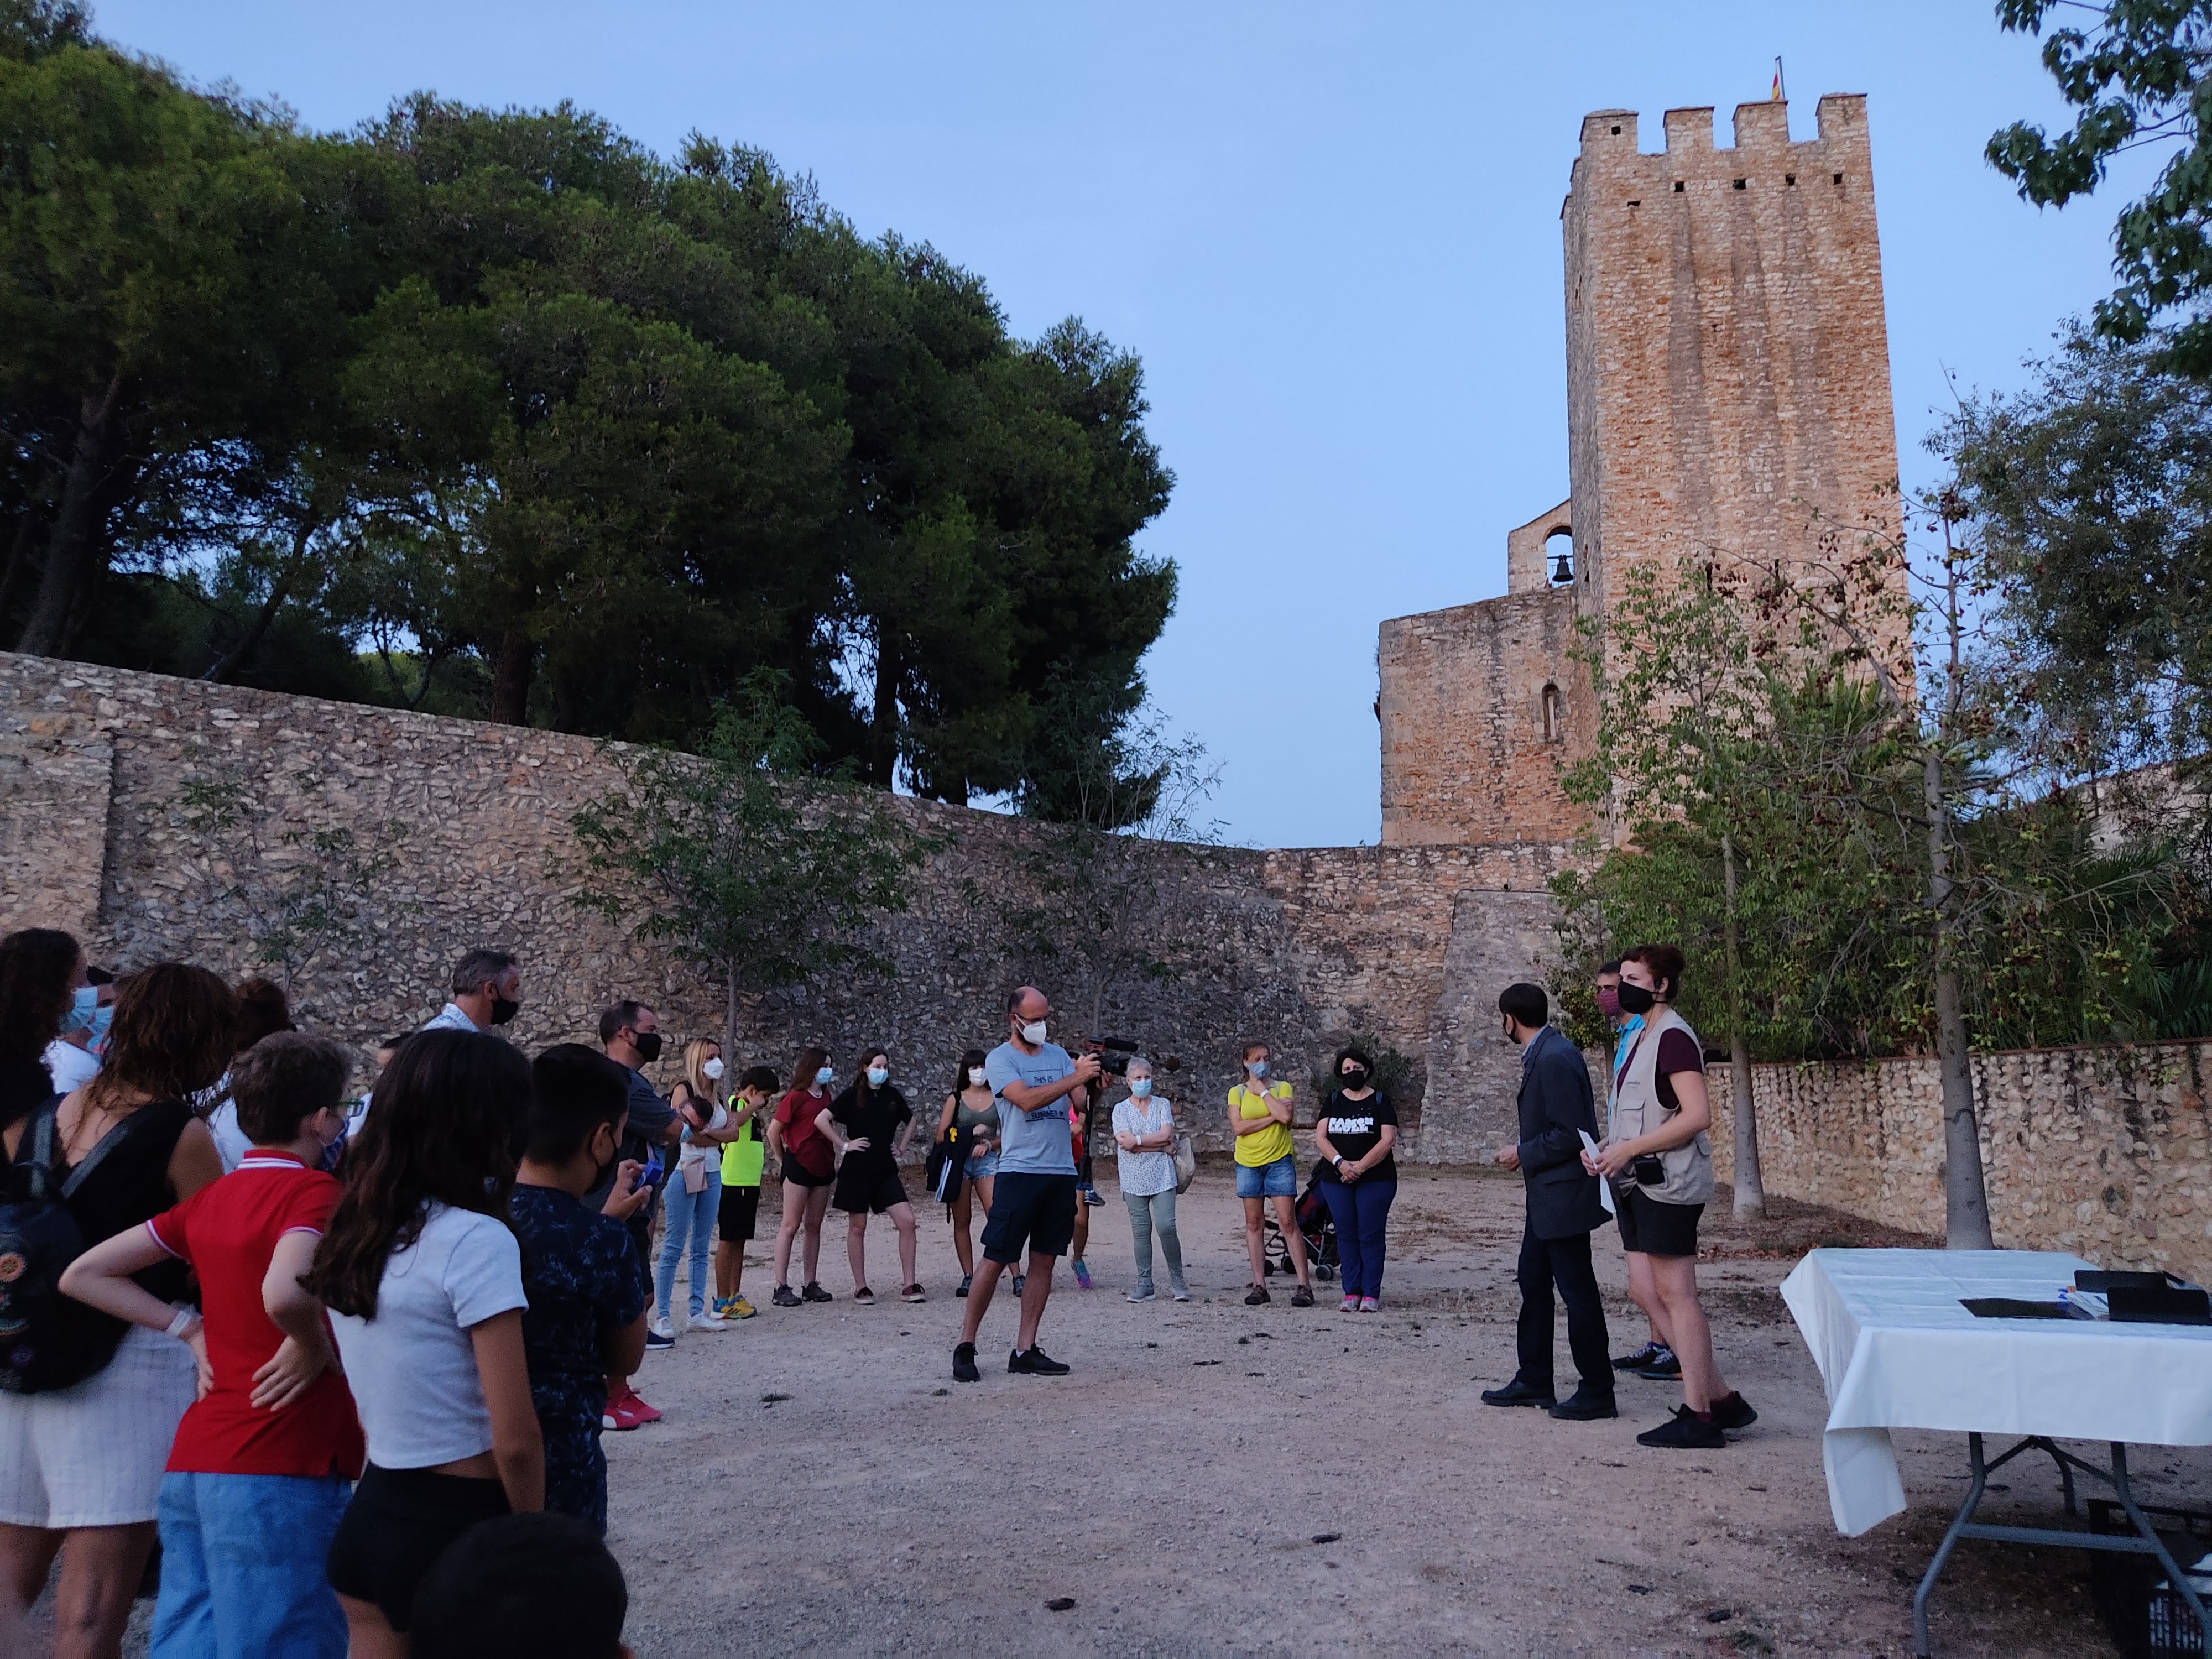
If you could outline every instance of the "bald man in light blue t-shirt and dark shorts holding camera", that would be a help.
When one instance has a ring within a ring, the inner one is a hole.
[[[982,1267],[969,1290],[960,1345],[953,1349],[953,1380],[980,1383],[975,1332],[998,1276],[1022,1261],[1029,1245],[1029,1279],[1022,1285],[1022,1325],[1006,1356],[1006,1369],[1024,1376],[1066,1376],[1068,1367],[1037,1347],[1037,1323],[1053,1296],[1053,1263],[1075,1239],[1075,1148],[1068,1141],[1068,1095],[1097,1084],[1099,1057],[1068,1060],[1057,1042],[1046,1042],[1053,1006],[1044,991],[1024,984],[1006,998],[1006,1042],[982,1062],[984,1082],[998,1097],[998,1186],[991,1219],[982,1228]]]

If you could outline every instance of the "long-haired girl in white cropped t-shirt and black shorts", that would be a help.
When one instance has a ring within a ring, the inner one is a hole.
[[[369,1467],[330,1546],[352,1652],[405,1659],[438,1555],[491,1515],[544,1509],[507,1228],[531,1066],[500,1037],[422,1031],[376,1082],[307,1285],[330,1307]]]

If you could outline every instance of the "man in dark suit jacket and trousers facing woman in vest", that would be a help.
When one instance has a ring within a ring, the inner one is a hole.
[[[1520,1371],[1502,1389],[1486,1389],[1484,1405],[1540,1405],[1555,1418],[1613,1418],[1613,1360],[1606,1349],[1606,1305],[1590,1272],[1590,1232],[1604,1225],[1606,1206],[1597,1177],[1582,1168],[1582,1135],[1595,1139],[1597,1104],[1590,1068],[1564,1035],[1551,1029],[1551,1000],[1540,984],[1509,984],[1498,998],[1509,1040],[1522,1044],[1520,1144],[1498,1152],[1498,1164],[1520,1170],[1528,1188],[1528,1225],[1520,1259]],[[1551,1387],[1551,1292],[1566,1303],[1566,1345],[1582,1374],[1573,1398]]]

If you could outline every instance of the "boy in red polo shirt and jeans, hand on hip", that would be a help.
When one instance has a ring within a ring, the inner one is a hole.
[[[361,1422],[323,1305],[299,1276],[338,1203],[321,1161],[345,1135],[349,1068],[338,1044],[299,1031],[248,1048],[230,1073],[246,1137],[237,1170],[62,1274],[71,1296],[146,1329],[177,1310],[131,1274],[164,1261],[199,1274],[204,1323],[190,1340],[206,1391],[161,1475],[159,1659],[345,1655],[323,1555],[361,1475]]]

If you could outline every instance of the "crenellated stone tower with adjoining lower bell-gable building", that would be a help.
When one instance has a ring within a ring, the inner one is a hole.
[[[1559,774],[1595,708],[1568,653],[1639,562],[1807,575],[1898,529],[1867,102],[1823,97],[1805,144],[1785,104],[1741,104],[1734,146],[1712,139],[1710,108],[1668,111],[1655,155],[1630,111],[1582,122],[1559,212],[1571,493],[1506,535],[1502,599],[1383,624],[1385,843],[1582,827]]]

